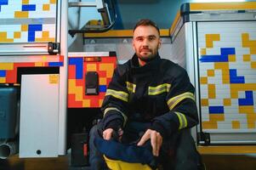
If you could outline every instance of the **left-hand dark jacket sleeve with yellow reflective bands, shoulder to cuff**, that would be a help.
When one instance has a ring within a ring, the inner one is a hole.
[[[117,66],[111,78],[111,82],[105,93],[105,99],[101,106],[104,113],[103,128],[111,127],[117,130],[123,127],[127,120],[128,89],[125,82],[125,71],[122,66]]]

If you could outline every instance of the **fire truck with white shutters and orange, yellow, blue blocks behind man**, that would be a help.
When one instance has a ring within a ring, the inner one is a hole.
[[[160,55],[196,88],[200,123],[191,133],[202,153],[248,144],[256,153],[255,14],[255,2],[184,3],[161,30]],[[117,63],[133,54],[132,31],[111,30],[116,20],[111,0],[0,1],[0,158],[71,148],[82,156],[73,164],[88,164],[88,131]]]

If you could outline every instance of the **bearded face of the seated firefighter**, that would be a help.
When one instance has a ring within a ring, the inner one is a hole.
[[[139,64],[144,65],[156,57],[161,43],[159,33],[155,27],[138,26],[134,30],[133,47],[139,57]]]

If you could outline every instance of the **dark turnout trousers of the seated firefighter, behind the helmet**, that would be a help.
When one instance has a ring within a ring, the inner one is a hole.
[[[150,126],[144,122],[128,122],[124,127],[122,143],[131,144],[139,142],[139,138]],[[94,139],[99,137],[100,123],[92,127],[89,133],[89,163],[92,170],[108,169],[104,158],[94,145]],[[102,132],[102,130],[101,130]],[[163,139],[160,156],[156,157],[157,167],[163,170],[199,170],[202,162],[196,150],[194,139],[189,129],[174,133],[171,138]]]

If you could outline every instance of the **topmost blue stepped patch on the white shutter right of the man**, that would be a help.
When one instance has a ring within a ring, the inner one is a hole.
[[[201,62],[228,62],[229,54],[236,54],[235,48],[220,48],[220,55],[202,55]]]

